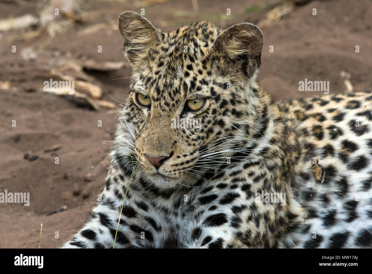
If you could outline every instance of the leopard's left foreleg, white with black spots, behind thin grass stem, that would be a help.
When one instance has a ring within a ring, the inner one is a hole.
[[[106,186],[90,220],[62,248],[160,248],[167,229],[160,214],[129,176],[109,172]],[[121,206],[124,207],[119,221]],[[118,231],[116,228],[118,226]]]

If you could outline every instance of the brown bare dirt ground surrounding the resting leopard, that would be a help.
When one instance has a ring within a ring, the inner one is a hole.
[[[61,6],[70,1],[51,2]],[[0,1],[0,20],[26,14],[39,17],[48,11],[41,3]],[[372,86],[370,0],[307,1],[294,7],[283,6],[280,0],[74,3],[79,9],[72,15],[67,7],[44,27],[0,31],[0,192],[30,193],[29,206],[0,204],[0,248],[37,248],[41,223],[41,248],[55,248],[87,220],[103,187],[118,111],[102,107],[95,111],[38,88],[63,71],[100,87],[101,99],[120,107],[117,101],[125,100],[129,79],[118,78],[131,75],[116,27],[123,11],[140,13],[143,8],[145,17],[164,30],[197,20],[223,28],[239,22],[257,24],[265,38],[259,80],[276,100],[320,95],[298,91],[298,82],[305,78],[330,81],[330,95],[345,92],[345,79],[354,91]],[[314,8],[317,15],[312,15]],[[264,21],[273,9],[279,12],[274,10],[269,18],[286,9],[289,13]],[[360,52],[355,51],[357,45]],[[97,51],[99,46],[102,52]],[[76,65],[88,60],[99,66],[107,61],[125,63],[108,71]]]

